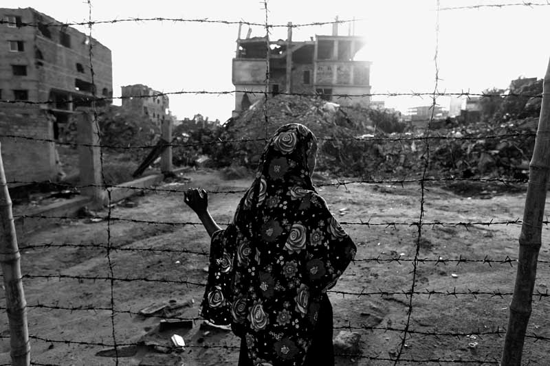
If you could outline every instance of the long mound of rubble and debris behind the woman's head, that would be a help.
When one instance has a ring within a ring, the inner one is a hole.
[[[501,124],[434,121],[426,134],[422,130],[404,132],[404,125],[397,126],[391,115],[372,111],[314,98],[277,95],[269,98],[267,104],[263,100],[252,104],[221,128],[190,133],[188,142],[199,144],[195,150],[185,150],[193,159],[209,157],[208,161],[216,167],[232,165],[254,170],[265,137],[283,124],[296,122],[308,126],[319,137],[317,169],[333,175],[417,179],[423,174],[429,144],[428,177],[527,178],[537,117]],[[384,132],[381,121],[401,132]],[[215,144],[219,140],[238,141]]]

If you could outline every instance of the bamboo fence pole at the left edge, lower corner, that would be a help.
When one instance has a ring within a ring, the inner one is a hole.
[[[27,302],[23,293],[21,264],[17,236],[12,214],[12,200],[5,181],[4,166],[0,155],[0,266],[5,288],[6,312],[10,322],[12,365],[30,365],[30,343],[27,325]]]

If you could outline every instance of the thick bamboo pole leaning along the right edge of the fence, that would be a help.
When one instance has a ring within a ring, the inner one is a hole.
[[[542,106],[538,120],[533,157],[529,163],[529,185],[523,211],[519,238],[518,271],[514,296],[511,299],[508,328],[501,366],[519,366],[529,317],[531,297],[537,273],[538,252],[541,246],[544,201],[550,172],[550,62],[542,87]]]

